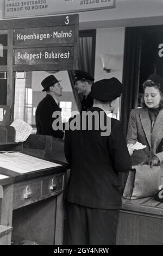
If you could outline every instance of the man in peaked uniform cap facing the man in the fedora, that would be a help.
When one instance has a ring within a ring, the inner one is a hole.
[[[93,106],[93,99],[90,95],[93,81],[94,78],[87,72],[81,70],[74,72],[74,87],[77,89],[78,94],[81,93],[83,95],[81,112],[88,111]]]

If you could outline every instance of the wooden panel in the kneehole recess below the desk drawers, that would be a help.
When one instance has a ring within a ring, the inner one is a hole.
[[[42,200],[13,211],[12,240],[28,239],[39,245],[54,245],[56,197]]]

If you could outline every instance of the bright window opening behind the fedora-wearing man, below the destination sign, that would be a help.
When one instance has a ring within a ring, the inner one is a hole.
[[[62,96],[58,97],[62,108],[62,121],[67,121],[72,116],[72,111],[78,111],[67,71],[24,71],[15,74],[14,119],[20,118],[35,127],[36,108],[46,96],[46,92],[42,92],[41,82],[49,75],[61,80],[63,87]]]

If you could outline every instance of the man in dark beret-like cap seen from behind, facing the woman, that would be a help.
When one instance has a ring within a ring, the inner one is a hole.
[[[121,207],[118,172],[131,167],[126,139],[120,121],[108,117],[122,84],[115,77],[97,81],[91,88],[93,107],[76,118],[86,123],[93,118],[92,130],[69,129],[65,132],[65,156],[71,166],[67,193],[68,244],[115,245],[118,214]],[[96,119],[99,115],[103,119]],[[100,121],[100,128],[97,127]],[[73,123],[73,122],[72,122]],[[110,124],[110,133],[102,136],[103,123]]]

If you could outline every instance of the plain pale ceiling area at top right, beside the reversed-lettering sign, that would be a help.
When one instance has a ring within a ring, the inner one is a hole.
[[[163,0],[116,0],[116,8],[80,12],[79,21],[80,29],[162,25]]]

